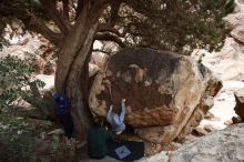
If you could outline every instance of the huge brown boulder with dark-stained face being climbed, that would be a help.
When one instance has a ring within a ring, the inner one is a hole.
[[[199,124],[213,105],[222,83],[190,57],[150,49],[124,49],[111,57],[94,80],[89,104],[93,117],[105,117],[126,99],[125,123],[141,138],[169,142]]]

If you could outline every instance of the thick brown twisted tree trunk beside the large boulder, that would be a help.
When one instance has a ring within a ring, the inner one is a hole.
[[[84,3],[77,23],[71,28],[58,55],[55,89],[71,98],[71,114],[78,139],[87,136],[91,123],[88,107],[88,62],[104,1]]]

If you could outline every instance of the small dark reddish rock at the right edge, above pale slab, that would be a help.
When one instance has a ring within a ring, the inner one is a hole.
[[[234,108],[235,113],[244,121],[244,89],[241,89],[235,92],[236,105]]]

